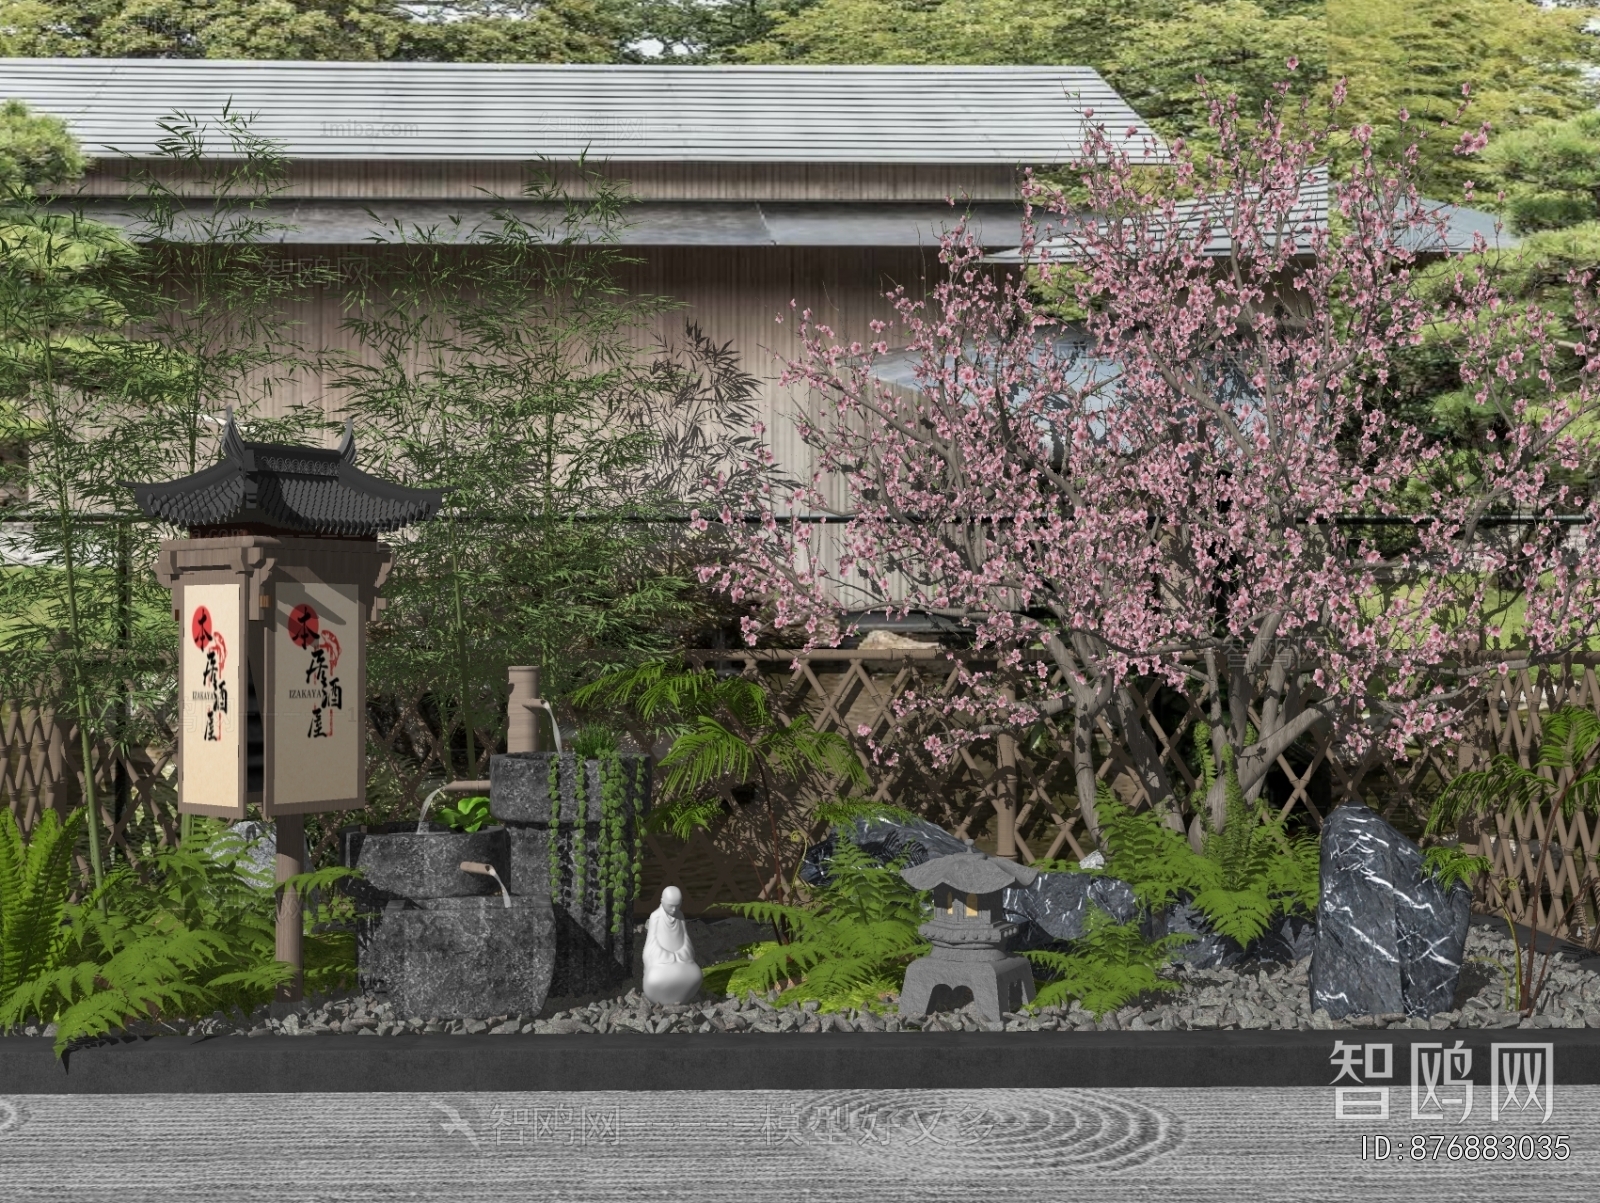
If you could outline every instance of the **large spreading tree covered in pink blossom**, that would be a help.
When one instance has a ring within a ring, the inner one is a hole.
[[[819,398],[800,424],[814,474],[704,518],[734,533],[702,578],[750,608],[746,637],[832,645],[862,609],[965,624],[963,693],[902,710],[939,757],[1059,721],[1094,838],[1099,720],[1173,825],[1186,803],[1192,835],[1226,817],[1221,781],[1202,800],[1170,779],[1136,680],[1202,693],[1218,760],[1256,797],[1314,728],[1403,757],[1458,736],[1490,673],[1594,646],[1594,291],[1578,282],[1573,342],[1483,272],[1462,266],[1443,299],[1418,288],[1442,211],[1414,152],[1382,162],[1370,128],[1338,125],[1341,93],[1314,122],[1285,86],[1248,133],[1218,102],[1221,149],[1176,144],[1158,179],[1101,131],[1086,206],[1029,186],[1062,232],[1030,227],[1024,270],[957,229],[941,278],[893,293],[870,344],[795,312],[786,381]],[[1488,419],[1466,451],[1392,403],[1430,338],[1453,339]],[[917,387],[875,374],[891,346]]]

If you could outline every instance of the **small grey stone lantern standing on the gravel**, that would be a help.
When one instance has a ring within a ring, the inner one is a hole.
[[[987,1019],[1016,1011],[1034,1000],[1034,969],[1022,957],[1005,950],[1016,923],[1003,921],[1002,897],[1026,886],[1038,870],[986,856],[971,846],[902,869],[917,889],[933,891],[933,918],[917,928],[933,942],[933,952],[906,968],[901,1014],[922,1016],[936,989],[966,987]]]

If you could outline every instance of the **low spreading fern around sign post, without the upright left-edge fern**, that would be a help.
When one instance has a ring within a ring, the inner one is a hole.
[[[350,875],[323,869],[282,888],[314,897]],[[54,1022],[58,1053],[138,1019],[250,1011],[293,976],[275,960],[274,885],[227,829],[200,829],[138,870],[117,869],[82,902],[51,905],[66,923],[48,955],[35,957],[30,974],[0,998],[0,1027]],[[306,990],[347,989],[354,939],[318,931],[315,918],[307,913]]]

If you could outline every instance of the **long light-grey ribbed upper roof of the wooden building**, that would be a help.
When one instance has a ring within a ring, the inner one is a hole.
[[[291,158],[1069,163],[1093,125],[1165,155],[1090,67],[0,59],[3,98],[98,157],[150,155],[162,120],[224,106]]]

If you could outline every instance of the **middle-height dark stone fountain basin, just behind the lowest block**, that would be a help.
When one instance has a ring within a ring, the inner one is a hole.
[[[462,861],[488,862],[501,880],[507,880],[510,843],[506,829],[344,832],[344,864],[362,870],[352,893],[368,907],[394,899],[499,897],[494,878],[462,872]]]

